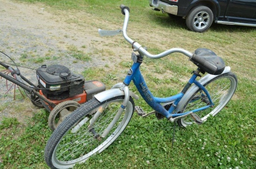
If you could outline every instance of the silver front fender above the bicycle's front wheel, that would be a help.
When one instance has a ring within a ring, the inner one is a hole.
[[[124,91],[120,90],[119,88],[112,88],[109,90],[106,90],[104,92],[101,92],[99,94],[95,94],[94,97],[99,100],[100,102],[108,100],[112,97],[116,96],[122,96],[124,95]],[[137,94],[134,94],[133,92],[129,91],[129,95],[135,98],[136,100],[139,99],[139,96]]]

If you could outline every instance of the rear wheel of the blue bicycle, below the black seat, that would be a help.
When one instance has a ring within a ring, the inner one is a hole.
[[[202,121],[206,121],[210,115],[215,116],[229,102],[236,91],[236,86],[236,75],[231,72],[218,75],[212,80],[208,81],[204,87],[208,90],[215,105],[205,110],[196,112],[196,114],[202,119]],[[183,106],[180,113],[189,112],[209,105],[209,100],[201,89],[198,89],[187,101],[184,102],[186,104]],[[178,125],[183,127],[191,125],[193,122],[193,119],[191,119],[189,116],[177,121]]]

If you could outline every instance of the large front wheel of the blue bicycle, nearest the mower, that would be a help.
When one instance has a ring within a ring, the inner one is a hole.
[[[95,153],[101,153],[112,144],[128,125],[134,101],[130,97],[120,118],[108,135],[102,133],[117,114],[124,96],[100,102],[95,98],[77,108],[56,128],[45,148],[45,160],[52,168],[67,169],[85,162]]]

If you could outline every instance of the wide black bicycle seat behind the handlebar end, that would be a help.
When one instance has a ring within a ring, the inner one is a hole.
[[[194,55],[189,60],[202,71],[211,75],[220,75],[225,69],[222,58],[209,49],[199,48],[195,50]]]

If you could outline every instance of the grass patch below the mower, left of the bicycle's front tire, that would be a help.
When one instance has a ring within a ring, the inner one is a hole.
[[[48,129],[49,113],[41,110],[27,124],[16,118],[5,118],[0,124],[0,168],[47,168],[43,163],[45,141],[51,134]]]

